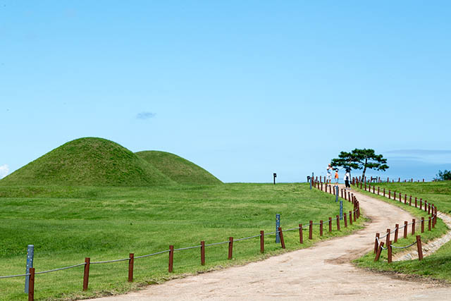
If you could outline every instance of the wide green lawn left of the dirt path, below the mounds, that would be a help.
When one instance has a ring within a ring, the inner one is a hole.
[[[344,202],[345,210],[352,205]],[[25,272],[26,247],[35,245],[35,269],[45,271],[91,261],[128,258],[168,250],[169,245],[189,247],[258,235],[275,230],[275,214],[281,226],[294,228],[309,220],[326,220],[338,214],[335,197],[308,184],[170,185],[154,188],[20,187],[0,186],[0,276]],[[359,228],[327,233],[321,239],[347,235]],[[299,245],[297,231],[284,233],[288,250]],[[307,236],[304,233],[304,238]],[[234,243],[233,260],[228,245],[206,248],[206,265],[200,265],[199,249],[174,254],[174,273],[168,273],[168,254],[135,260],[135,282],[128,283],[128,262],[92,265],[89,290],[82,292],[83,267],[36,276],[37,300],[62,300],[124,293],[147,283],[193,274],[223,266],[243,264],[286,252],[259,238]],[[26,300],[24,278],[0,279],[0,300]]]

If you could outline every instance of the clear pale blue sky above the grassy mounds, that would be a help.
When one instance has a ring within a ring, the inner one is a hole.
[[[0,177],[65,142],[304,181],[373,148],[451,169],[449,1],[0,0]]]

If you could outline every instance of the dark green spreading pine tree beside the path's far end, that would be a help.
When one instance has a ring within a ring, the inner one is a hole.
[[[353,149],[351,152],[340,152],[338,158],[332,159],[332,166],[342,166],[352,169],[363,169],[362,178],[365,178],[366,168],[376,171],[385,171],[388,168],[387,159],[376,154],[374,149]]]

